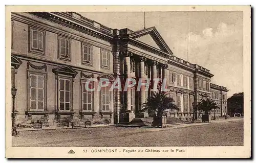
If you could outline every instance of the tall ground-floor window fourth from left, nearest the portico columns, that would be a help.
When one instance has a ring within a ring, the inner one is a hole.
[[[109,89],[110,86],[101,88],[101,111],[110,111],[111,92]]]

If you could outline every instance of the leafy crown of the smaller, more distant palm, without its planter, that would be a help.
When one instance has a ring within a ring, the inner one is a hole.
[[[217,108],[216,103],[211,99],[201,99],[197,105],[199,111],[204,111],[204,114],[209,114],[211,109]]]

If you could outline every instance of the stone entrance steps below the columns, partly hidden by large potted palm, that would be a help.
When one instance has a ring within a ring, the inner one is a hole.
[[[188,124],[189,122],[180,120],[174,117],[167,117],[166,124],[168,125],[178,125],[178,124]],[[134,118],[131,122],[121,122],[116,124],[118,127],[153,127],[153,118]]]

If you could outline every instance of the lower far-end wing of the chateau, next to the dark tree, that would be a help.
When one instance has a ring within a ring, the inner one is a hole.
[[[224,86],[210,83],[211,99],[215,101],[219,108],[212,110],[211,115],[216,117],[224,117],[227,115],[227,92]]]

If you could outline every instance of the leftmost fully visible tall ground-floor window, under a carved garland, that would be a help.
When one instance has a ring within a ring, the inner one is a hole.
[[[45,110],[45,81],[43,74],[29,74],[30,110]]]

